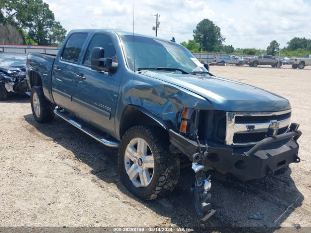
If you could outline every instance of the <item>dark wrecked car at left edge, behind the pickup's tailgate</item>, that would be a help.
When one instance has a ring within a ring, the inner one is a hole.
[[[25,94],[27,54],[0,53],[0,100],[9,94]]]

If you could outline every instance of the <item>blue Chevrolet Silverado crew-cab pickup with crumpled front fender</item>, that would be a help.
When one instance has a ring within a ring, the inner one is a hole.
[[[212,75],[173,40],[74,30],[56,56],[29,54],[26,64],[35,120],[57,115],[119,148],[121,180],[144,200],[173,191],[183,154],[195,172],[190,190],[202,220],[215,212],[207,170],[245,181],[300,161],[301,132],[288,100]]]

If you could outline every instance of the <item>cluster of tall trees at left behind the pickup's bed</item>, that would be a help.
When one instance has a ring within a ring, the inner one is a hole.
[[[56,46],[66,33],[42,0],[0,0],[0,43]]]

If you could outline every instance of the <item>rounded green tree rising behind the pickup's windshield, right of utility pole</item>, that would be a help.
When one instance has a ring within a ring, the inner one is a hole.
[[[207,18],[196,25],[193,30],[193,38],[199,44],[200,49],[208,52],[219,51],[225,42],[220,28]]]

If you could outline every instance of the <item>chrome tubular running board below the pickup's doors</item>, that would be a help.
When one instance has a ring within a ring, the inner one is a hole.
[[[64,120],[66,120],[67,122],[69,122],[71,125],[73,125],[74,127],[78,128],[79,130],[81,130],[82,132],[86,133],[87,135],[91,136],[92,138],[96,139],[97,141],[99,141],[100,143],[104,144],[107,147],[113,147],[113,148],[119,148],[120,146],[120,142],[114,142],[114,141],[109,141],[106,138],[104,138],[103,136],[91,131],[90,129],[88,129],[86,126],[81,125],[80,123],[78,123],[77,121],[71,119],[69,116],[66,116],[64,113],[62,113],[59,109],[55,109],[54,113],[63,118]]]

